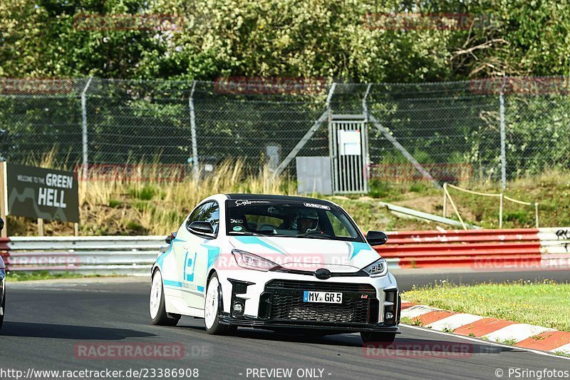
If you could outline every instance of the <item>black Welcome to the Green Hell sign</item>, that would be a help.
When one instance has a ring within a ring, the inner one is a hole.
[[[76,173],[11,163],[6,171],[10,215],[79,222]]]

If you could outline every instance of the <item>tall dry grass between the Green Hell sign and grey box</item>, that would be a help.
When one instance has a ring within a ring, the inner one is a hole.
[[[172,173],[172,178],[177,174]],[[226,161],[214,172],[200,173],[198,181],[192,176],[162,183],[128,177],[80,181],[81,230],[87,235],[133,230],[167,234],[205,197],[228,192],[288,195],[296,193],[296,185],[288,178],[274,176],[268,166],[258,173],[248,173],[242,160]]]

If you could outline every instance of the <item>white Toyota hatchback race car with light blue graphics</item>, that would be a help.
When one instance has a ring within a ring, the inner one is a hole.
[[[388,264],[352,218],[326,200],[218,194],[204,199],[152,266],[150,317],[175,326],[204,318],[207,332],[237,327],[308,335],[399,334],[400,297]]]

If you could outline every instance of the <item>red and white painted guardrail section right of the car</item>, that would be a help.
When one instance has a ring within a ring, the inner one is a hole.
[[[570,268],[570,227],[388,232],[390,267]]]

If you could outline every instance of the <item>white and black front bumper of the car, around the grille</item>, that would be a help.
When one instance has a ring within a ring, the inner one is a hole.
[[[392,274],[331,277],[280,272],[222,274],[222,323],[260,329],[398,333],[400,297]],[[342,292],[341,304],[304,302],[303,292]],[[241,304],[239,311],[235,304]],[[391,315],[391,317],[390,317]]]

